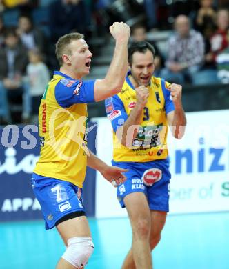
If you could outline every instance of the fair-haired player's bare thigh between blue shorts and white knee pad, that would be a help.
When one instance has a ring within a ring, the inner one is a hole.
[[[86,216],[63,221],[57,225],[57,230],[66,246],[68,239],[72,237],[92,237]]]

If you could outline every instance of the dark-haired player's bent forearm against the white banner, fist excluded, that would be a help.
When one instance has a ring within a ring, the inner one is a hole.
[[[183,107],[175,108],[174,117],[172,121],[172,135],[181,139],[186,129],[186,114],[183,111]]]

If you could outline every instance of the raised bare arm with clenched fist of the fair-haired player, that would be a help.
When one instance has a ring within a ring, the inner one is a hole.
[[[104,79],[94,83],[94,100],[101,101],[121,91],[128,70],[128,39],[130,28],[126,23],[114,23],[110,33],[115,38],[115,52]]]

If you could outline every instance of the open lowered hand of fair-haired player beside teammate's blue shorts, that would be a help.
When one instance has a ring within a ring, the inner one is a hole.
[[[107,181],[112,183],[114,187],[120,185],[124,181],[126,181],[126,177],[123,175],[123,172],[127,172],[128,169],[119,168],[117,166],[106,166],[101,174]]]

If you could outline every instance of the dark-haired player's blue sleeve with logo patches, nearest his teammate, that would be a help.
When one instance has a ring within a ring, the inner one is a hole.
[[[126,114],[123,102],[117,95],[115,95],[114,97],[105,100],[105,107],[107,117],[111,121],[114,132],[116,132],[128,119],[128,114]]]

